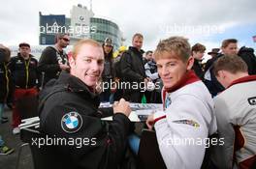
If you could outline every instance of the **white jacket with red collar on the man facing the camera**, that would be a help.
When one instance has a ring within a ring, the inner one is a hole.
[[[163,90],[164,111],[154,114],[161,155],[168,169],[199,169],[208,135],[216,131],[213,100],[194,71],[188,71],[168,92]]]

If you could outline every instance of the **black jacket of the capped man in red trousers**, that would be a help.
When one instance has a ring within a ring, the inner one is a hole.
[[[24,60],[18,53],[17,56],[11,58],[9,69],[16,88],[29,89],[37,87],[39,78],[38,61],[33,57],[29,55],[29,59]]]

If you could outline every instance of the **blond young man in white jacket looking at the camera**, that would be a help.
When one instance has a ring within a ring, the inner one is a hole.
[[[164,111],[149,116],[161,155],[168,169],[199,169],[208,135],[216,131],[213,100],[192,69],[194,59],[187,39],[171,37],[158,43],[154,52],[164,83]]]

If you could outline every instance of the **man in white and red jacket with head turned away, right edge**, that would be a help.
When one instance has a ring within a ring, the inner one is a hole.
[[[250,169],[256,163],[256,75],[239,56],[222,56],[214,63],[217,80],[226,88],[214,98],[218,135],[225,144],[213,147],[218,168]]]

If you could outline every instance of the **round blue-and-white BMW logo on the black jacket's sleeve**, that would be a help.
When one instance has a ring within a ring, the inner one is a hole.
[[[73,111],[65,114],[61,119],[61,127],[65,132],[74,133],[80,130],[82,118],[79,113]]]

